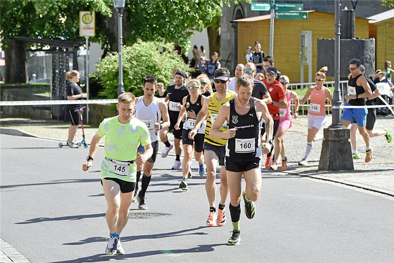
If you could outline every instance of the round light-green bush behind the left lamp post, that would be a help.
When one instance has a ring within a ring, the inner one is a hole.
[[[157,82],[168,84],[174,67],[188,70],[188,66],[173,50],[173,43],[137,40],[132,46],[123,48],[122,61],[124,89],[133,92],[135,96],[142,95],[142,79],[146,75],[154,75]],[[104,87],[99,93],[100,96],[108,99],[117,98],[119,54],[112,52],[101,60],[93,77],[99,79]]]

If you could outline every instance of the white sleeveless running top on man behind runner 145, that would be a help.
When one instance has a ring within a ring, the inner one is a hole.
[[[153,97],[152,102],[148,106],[145,106],[143,98],[144,96],[140,97],[136,103],[135,117],[146,124],[150,133],[150,140],[155,142],[159,140],[159,137],[157,136],[157,130],[154,129],[154,124],[156,122],[160,123],[162,118],[159,99]]]

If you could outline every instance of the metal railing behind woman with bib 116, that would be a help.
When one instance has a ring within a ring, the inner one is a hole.
[[[304,98],[304,95],[305,95],[306,91],[308,90],[308,88],[309,88],[310,86],[313,86],[313,85],[316,85],[316,83],[314,83],[314,82],[308,82],[308,83],[292,83],[292,84],[290,84],[290,85],[287,87],[287,89],[292,90],[292,91],[294,91],[294,92],[297,92],[297,91],[300,91],[300,90],[301,90],[301,94],[302,94],[302,95],[299,96],[299,99],[300,99],[300,101],[301,101],[301,100]],[[333,90],[333,88],[334,88],[334,82],[333,82],[333,81],[324,82],[324,86],[326,86],[327,88]],[[341,90],[342,101],[345,101],[345,97],[344,97],[344,96],[346,95],[346,93],[345,93],[344,91],[347,92],[347,81],[346,81],[346,80],[345,80],[345,81],[340,81],[340,82],[339,82],[339,88],[340,88],[340,90]],[[297,93],[300,94],[300,92],[297,92]],[[331,94],[332,94],[332,92],[331,92]],[[301,112],[302,112],[302,115],[306,115],[306,114],[307,114],[309,103],[310,103],[310,98],[308,98],[308,100],[306,101],[306,104],[305,104],[304,106],[301,106],[301,105],[300,105],[300,107],[299,107],[299,112],[301,111]],[[326,108],[327,108],[326,111],[328,112],[328,114],[331,114],[331,106],[330,106],[328,100],[327,100],[327,102],[326,102]],[[292,110],[292,112],[294,112],[294,102],[291,102],[291,110]]]

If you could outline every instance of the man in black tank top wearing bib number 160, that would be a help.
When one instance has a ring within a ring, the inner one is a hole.
[[[226,145],[226,173],[228,188],[230,190],[230,214],[232,221],[232,235],[228,239],[230,245],[240,242],[240,216],[241,216],[241,180],[245,178],[246,190],[242,197],[245,202],[246,217],[251,219],[255,214],[254,202],[260,196],[261,169],[259,120],[266,122],[267,136],[272,136],[273,120],[269,115],[268,107],[264,101],[251,98],[253,80],[241,76],[235,83],[238,97],[222,105],[215,122],[212,124],[209,136],[212,139],[228,138]],[[227,121],[229,129],[221,132],[220,128]],[[270,143],[265,144],[264,153],[271,150]]]

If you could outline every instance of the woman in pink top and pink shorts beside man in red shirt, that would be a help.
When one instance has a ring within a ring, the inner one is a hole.
[[[298,107],[299,107],[299,99],[297,96],[297,93],[288,90],[287,87],[289,86],[289,78],[285,75],[282,75],[281,78],[279,79],[279,82],[282,83],[283,87],[285,88],[286,92],[286,99],[287,99],[287,108],[281,108],[279,109],[279,126],[278,126],[278,131],[277,134],[275,134],[275,147],[274,147],[274,159],[272,162],[272,165],[274,167],[278,167],[278,161],[279,161],[279,154],[282,157],[282,171],[285,171],[287,169],[287,158],[285,156],[285,144],[284,144],[284,137],[287,132],[287,130],[291,127],[291,109],[290,109],[290,102],[291,100],[294,100],[294,119],[297,118],[298,116]],[[271,165],[271,166],[272,166]]]

